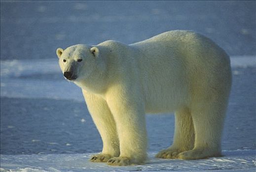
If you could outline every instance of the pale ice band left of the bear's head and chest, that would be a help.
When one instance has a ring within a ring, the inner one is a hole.
[[[1,96],[83,101],[80,89],[63,79],[57,58],[1,60],[0,76]],[[63,94],[64,92],[66,93]]]

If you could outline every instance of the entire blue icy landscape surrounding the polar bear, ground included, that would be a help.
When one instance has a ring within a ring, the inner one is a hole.
[[[256,1],[0,1],[0,171],[256,171]],[[90,163],[102,141],[55,50],[107,39],[133,43],[172,29],[202,33],[231,56],[223,157],[156,159],[174,115],[147,115],[145,165]]]

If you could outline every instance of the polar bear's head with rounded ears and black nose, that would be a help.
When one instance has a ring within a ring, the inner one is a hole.
[[[78,44],[65,50],[58,48],[56,54],[63,75],[69,81],[82,81],[99,68],[99,49],[95,46]]]

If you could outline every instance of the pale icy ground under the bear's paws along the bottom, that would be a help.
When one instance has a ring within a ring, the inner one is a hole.
[[[240,171],[255,172],[256,150],[223,151],[224,156],[203,160],[168,160],[154,158],[150,152],[145,165],[111,167],[91,163],[91,154],[1,155],[1,172],[131,172],[131,171]]]

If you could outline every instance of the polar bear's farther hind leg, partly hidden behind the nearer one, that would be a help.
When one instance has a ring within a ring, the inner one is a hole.
[[[178,154],[194,147],[194,126],[187,108],[175,112],[175,132],[173,144],[158,152],[155,157],[175,159]]]

